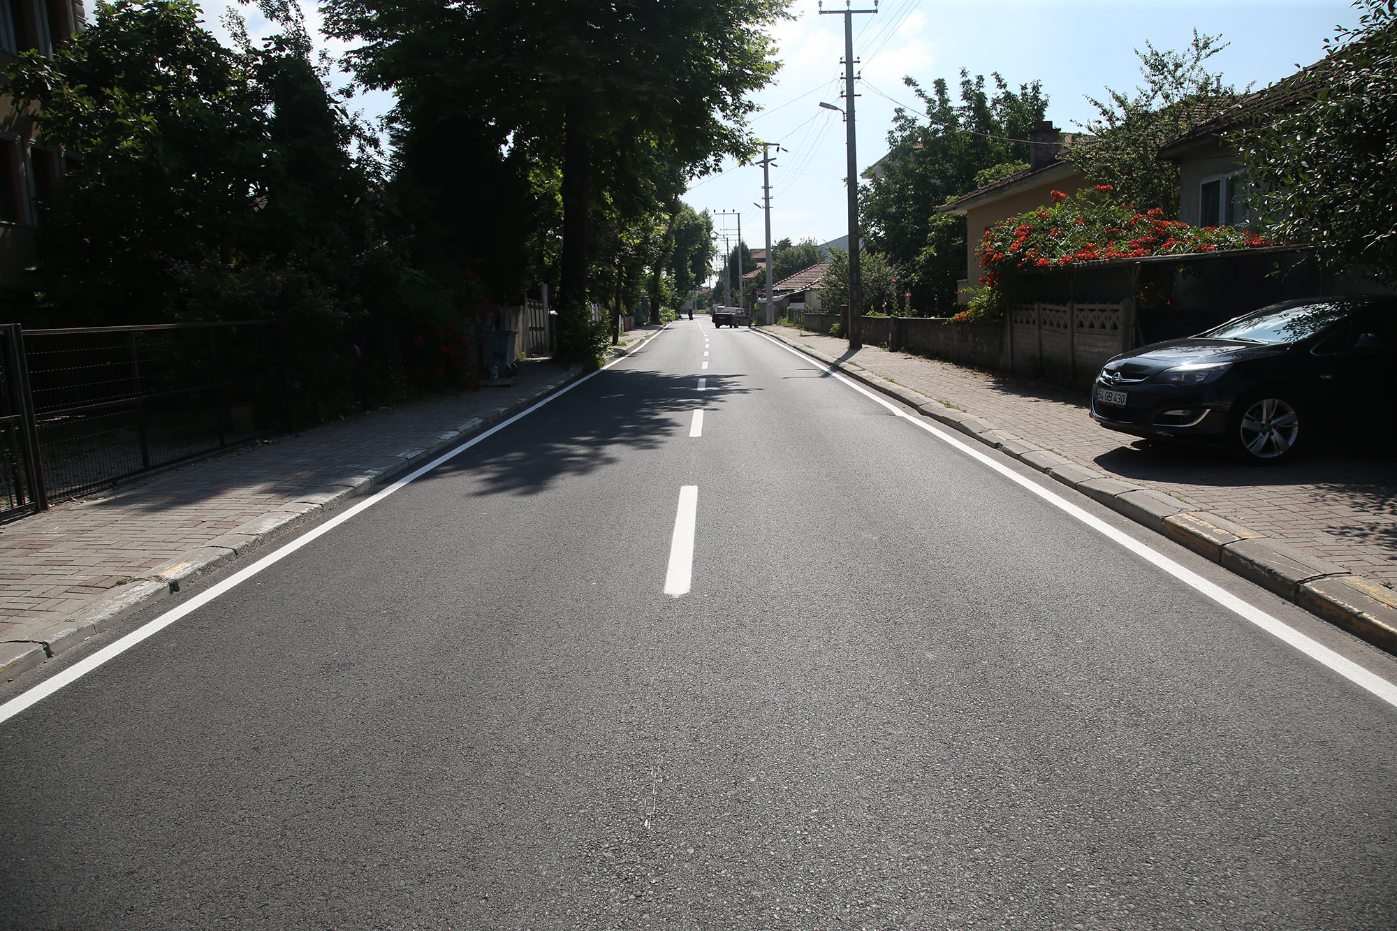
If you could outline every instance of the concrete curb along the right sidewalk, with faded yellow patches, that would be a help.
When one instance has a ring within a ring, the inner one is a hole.
[[[768,330],[763,333],[876,391],[914,407],[933,421],[974,436],[986,446],[993,446],[1046,472],[1069,488],[1088,495],[1150,530],[1162,533],[1243,579],[1270,589],[1387,653],[1397,654],[1397,593],[1217,514],[1192,510],[1178,498],[1073,463],[1000,431],[989,421],[946,407],[861,366],[833,359],[780,333]]]

